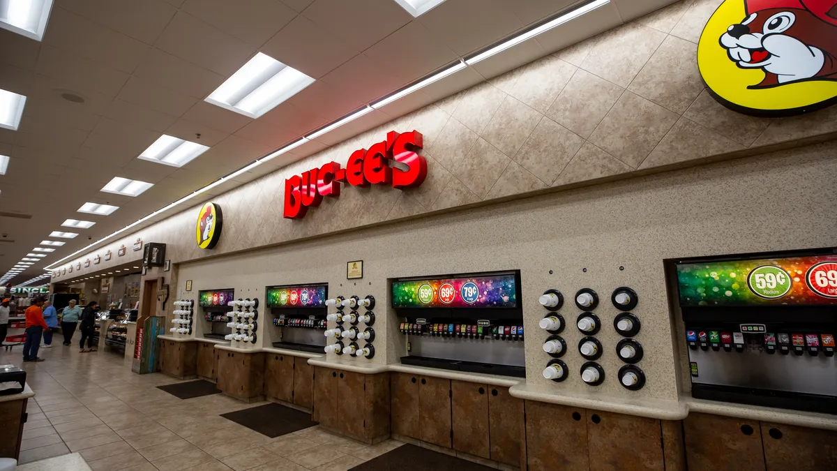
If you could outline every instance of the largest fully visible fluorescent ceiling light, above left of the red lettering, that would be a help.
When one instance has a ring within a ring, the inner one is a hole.
[[[314,79],[308,75],[270,55],[259,53],[215,89],[206,101],[258,118],[312,83]]]

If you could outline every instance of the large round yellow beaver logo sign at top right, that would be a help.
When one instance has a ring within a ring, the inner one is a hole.
[[[728,108],[791,116],[837,102],[837,0],[726,0],[697,48],[703,80]]]

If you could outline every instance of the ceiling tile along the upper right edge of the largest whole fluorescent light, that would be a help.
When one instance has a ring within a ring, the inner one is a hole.
[[[326,28],[302,15],[294,18],[259,50],[315,79],[357,54]]]

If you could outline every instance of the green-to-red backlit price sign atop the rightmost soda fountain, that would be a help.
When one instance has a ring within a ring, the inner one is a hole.
[[[837,255],[677,266],[680,306],[837,304]]]

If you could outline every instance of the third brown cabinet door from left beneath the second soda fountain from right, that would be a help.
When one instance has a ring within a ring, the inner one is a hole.
[[[490,458],[487,390],[480,383],[450,381],[454,450]]]

